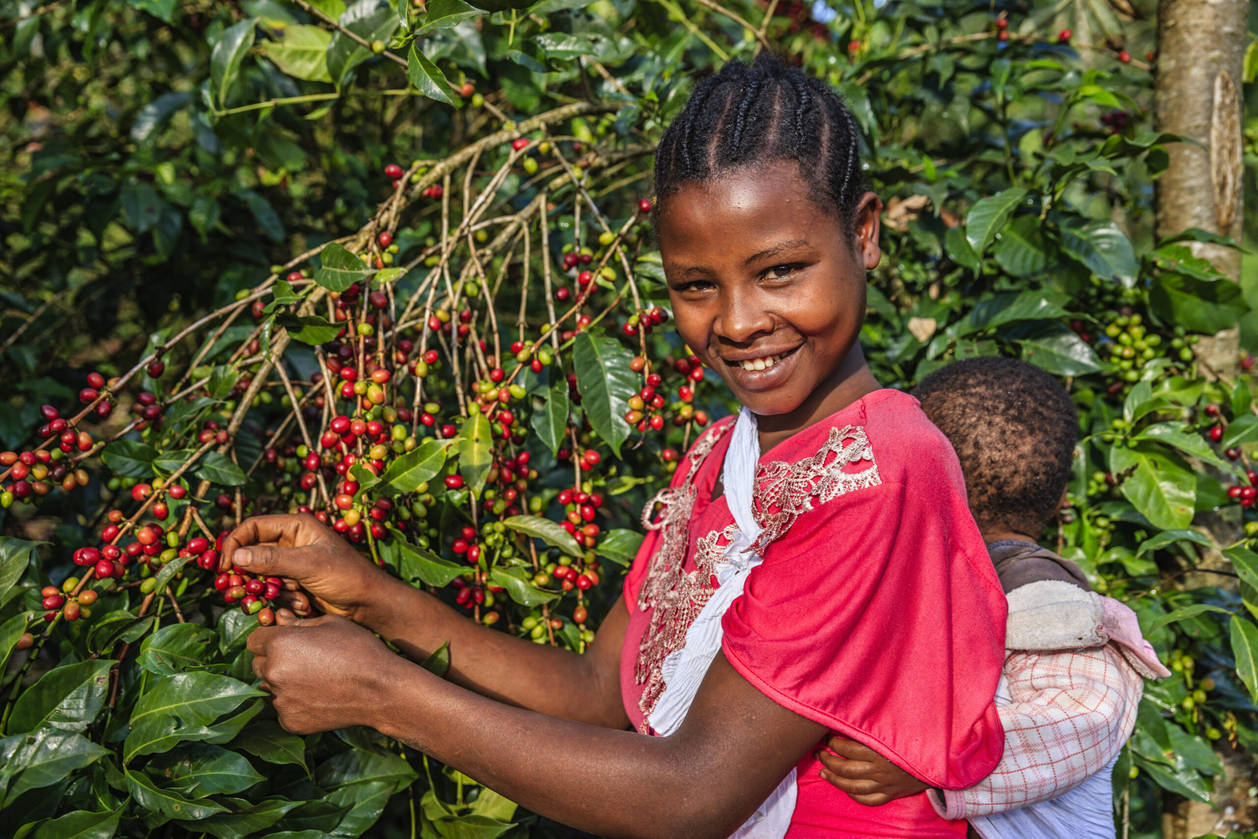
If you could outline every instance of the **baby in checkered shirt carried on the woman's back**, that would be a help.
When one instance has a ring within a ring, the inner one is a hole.
[[[1014,358],[957,361],[913,394],[952,443],[970,512],[1009,599],[996,704],[1000,765],[964,790],[926,789],[850,740],[820,752],[823,777],[863,804],[922,790],[982,839],[1113,839],[1111,771],[1131,736],[1144,678],[1170,675],[1126,605],[1094,594],[1078,565],[1037,536],[1063,506],[1078,416],[1058,381]],[[847,758],[847,760],[845,760]]]

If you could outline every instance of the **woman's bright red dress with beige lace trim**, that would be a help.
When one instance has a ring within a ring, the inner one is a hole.
[[[664,657],[684,645],[735,526],[725,497],[712,501],[732,425],[699,436],[643,514],[652,532],[625,577],[620,682],[644,733]],[[931,786],[991,772],[1004,745],[993,697],[1005,597],[956,455],[917,400],[879,390],[774,447],[755,507],[765,561],[722,621],[733,668]],[[868,808],[821,780],[811,753],[796,770],[789,839],[965,834],[925,794]]]

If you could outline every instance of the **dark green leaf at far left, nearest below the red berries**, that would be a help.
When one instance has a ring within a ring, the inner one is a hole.
[[[18,698],[6,732],[16,735],[40,726],[86,730],[104,706],[113,664],[111,659],[89,659],[53,668]]]

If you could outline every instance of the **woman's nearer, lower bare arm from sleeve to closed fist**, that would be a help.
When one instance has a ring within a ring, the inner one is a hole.
[[[338,618],[259,629],[254,670],[281,723],[365,725],[512,801],[604,836],[722,839],[825,732],[718,655],[681,728],[643,737],[506,706],[442,681]]]

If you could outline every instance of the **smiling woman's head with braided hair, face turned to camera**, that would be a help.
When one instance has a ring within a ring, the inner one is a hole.
[[[701,82],[655,157],[677,330],[760,415],[799,408],[859,347],[882,203],[855,121],[762,54]]]

